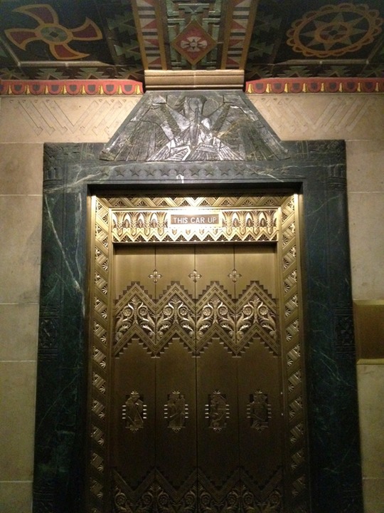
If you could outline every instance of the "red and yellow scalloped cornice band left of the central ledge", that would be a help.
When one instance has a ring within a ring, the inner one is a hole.
[[[1,80],[0,95],[142,95],[143,84],[133,80]]]

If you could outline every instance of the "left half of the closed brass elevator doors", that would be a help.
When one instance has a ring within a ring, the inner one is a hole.
[[[156,511],[196,487],[193,254],[146,244],[117,249],[115,261],[112,467],[129,507]]]

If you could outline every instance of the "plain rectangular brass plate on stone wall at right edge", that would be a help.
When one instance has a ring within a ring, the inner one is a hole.
[[[353,301],[358,360],[384,358],[384,300]]]

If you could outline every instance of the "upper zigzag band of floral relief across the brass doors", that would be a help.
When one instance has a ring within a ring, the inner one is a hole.
[[[115,324],[117,351],[127,343],[123,337],[128,331],[139,336],[141,333],[142,343],[156,354],[164,350],[175,333],[197,353],[204,350],[212,336],[219,335],[222,343],[238,354],[256,333],[264,333],[263,341],[276,351],[276,305],[255,283],[238,302],[216,282],[197,302],[176,282],[158,301],[151,299],[139,284],[134,284],[120,301]]]

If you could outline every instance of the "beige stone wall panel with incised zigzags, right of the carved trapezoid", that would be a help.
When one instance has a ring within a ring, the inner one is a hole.
[[[249,95],[282,140],[382,139],[384,95]]]

